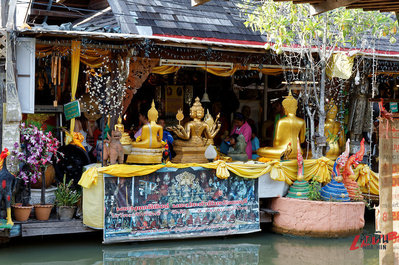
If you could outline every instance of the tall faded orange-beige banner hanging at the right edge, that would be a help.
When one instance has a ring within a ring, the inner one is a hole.
[[[380,122],[380,264],[399,264],[399,119]]]

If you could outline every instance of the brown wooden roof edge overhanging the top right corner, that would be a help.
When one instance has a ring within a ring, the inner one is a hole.
[[[282,1],[282,0],[274,0]],[[293,0],[295,4],[310,3],[312,15],[324,13],[334,8],[345,6],[347,9],[362,8],[364,11],[379,10],[380,12],[398,12],[398,0]]]

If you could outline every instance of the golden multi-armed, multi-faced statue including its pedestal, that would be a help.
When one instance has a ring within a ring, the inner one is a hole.
[[[221,124],[217,122],[218,116],[216,116],[216,120],[211,125],[201,120],[203,107],[199,97],[196,98],[190,108],[190,117],[193,120],[187,122],[185,127],[176,125],[166,128],[182,139],[173,141],[173,147],[176,152],[176,157],[172,159],[173,163],[192,163],[193,161],[207,163],[208,160],[204,155],[207,145],[213,142],[213,138],[220,130]]]

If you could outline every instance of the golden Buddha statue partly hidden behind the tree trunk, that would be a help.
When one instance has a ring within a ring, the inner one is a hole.
[[[324,123],[324,135],[327,143],[330,145],[330,150],[325,157],[336,160],[341,155],[341,147],[345,145],[345,132],[341,127],[341,123],[336,121],[338,107],[330,103],[326,106],[327,119]]]

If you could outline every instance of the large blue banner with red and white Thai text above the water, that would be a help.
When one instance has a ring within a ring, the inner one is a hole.
[[[104,174],[104,243],[259,231],[258,179],[202,167]]]

